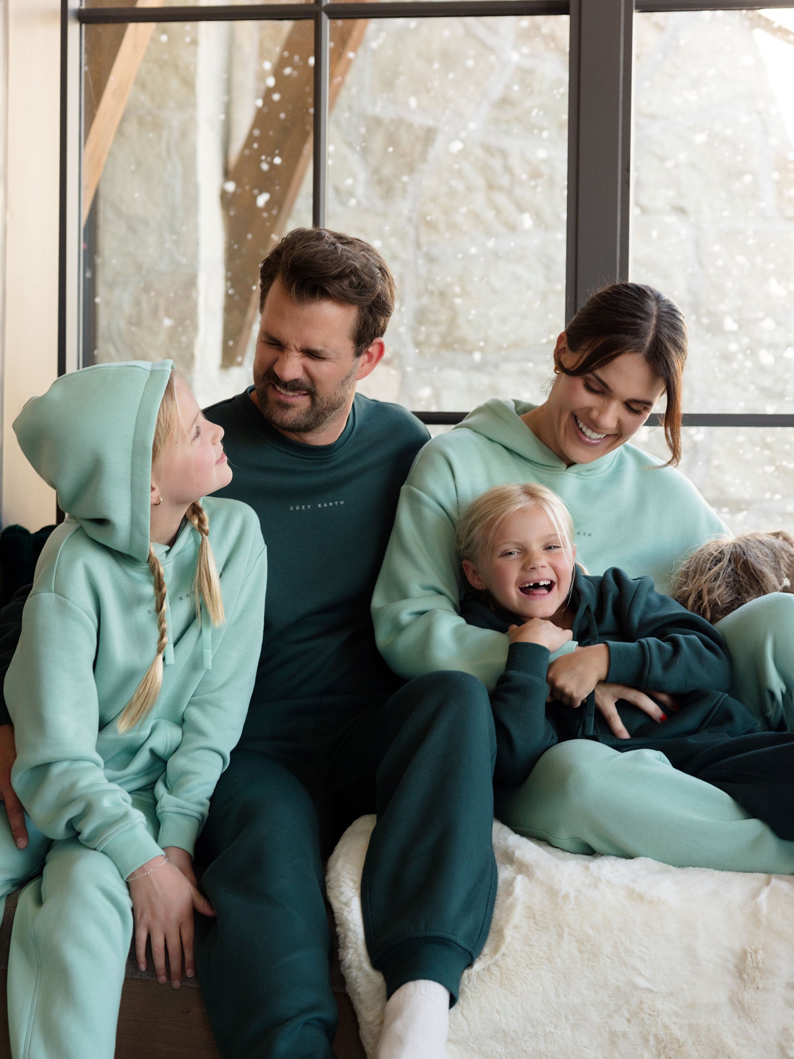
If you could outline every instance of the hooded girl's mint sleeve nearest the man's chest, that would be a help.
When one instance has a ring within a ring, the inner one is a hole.
[[[224,600],[227,624],[212,660],[182,719],[182,739],[155,787],[160,845],[193,856],[206,820],[210,797],[239,740],[261,650],[267,552],[256,522],[254,559],[233,607]]]

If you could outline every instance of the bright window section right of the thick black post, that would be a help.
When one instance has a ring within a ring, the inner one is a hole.
[[[639,14],[635,49],[631,272],[684,310],[685,407],[791,414],[794,10]],[[733,530],[794,528],[790,430],[687,430],[682,469]]]

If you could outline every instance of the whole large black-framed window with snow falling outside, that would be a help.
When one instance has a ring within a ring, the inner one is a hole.
[[[326,223],[397,282],[364,392],[443,423],[542,399],[564,321],[630,276],[687,317],[683,469],[736,528],[794,530],[794,8],[717,7],[86,0],[62,364],[172,356],[201,401],[239,391],[258,262]]]

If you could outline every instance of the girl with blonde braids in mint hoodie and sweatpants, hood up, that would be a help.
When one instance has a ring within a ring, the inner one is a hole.
[[[254,683],[265,545],[246,504],[201,499],[231,481],[223,431],[170,361],[66,375],[14,429],[69,514],[5,680],[30,840],[15,848],[3,816],[0,894],[33,879],[11,943],[12,1053],[111,1059],[133,922],[139,966],[148,939],[179,986],[194,909],[214,915],[192,855]]]

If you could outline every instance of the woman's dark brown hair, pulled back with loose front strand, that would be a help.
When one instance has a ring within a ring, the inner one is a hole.
[[[578,359],[565,367],[555,354],[555,371],[582,376],[624,353],[638,353],[662,379],[667,394],[665,441],[681,460],[681,390],[686,362],[686,324],[669,298],[642,283],[613,283],[582,305],[565,328],[567,347]]]

